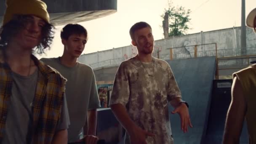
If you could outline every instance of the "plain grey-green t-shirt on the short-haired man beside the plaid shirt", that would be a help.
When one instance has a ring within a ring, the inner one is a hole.
[[[65,93],[70,117],[68,138],[69,142],[77,141],[83,134],[87,111],[100,107],[93,69],[80,62],[75,67],[66,67],[61,64],[59,57],[40,60],[58,70],[67,79]]]

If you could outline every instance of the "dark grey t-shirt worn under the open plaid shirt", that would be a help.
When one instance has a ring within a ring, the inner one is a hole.
[[[12,73],[13,84],[8,114],[5,123],[5,133],[2,144],[30,144],[32,140],[32,102],[37,86],[38,69],[27,77]],[[61,109],[61,119],[56,131],[67,129],[69,124],[67,102]]]

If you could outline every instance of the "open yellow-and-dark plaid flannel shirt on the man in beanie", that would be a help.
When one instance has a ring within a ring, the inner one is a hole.
[[[39,70],[35,97],[32,103],[32,144],[50,144],[56,132],[57,122],[60,119],[67,80],[35,56],[32,55],[31,58]],[[3,56],[0,56],[0,141],[3,139],[3,133],[5,132],[5,121],[11,96],[13,83],[11,73],[11,69],[4,62]]]

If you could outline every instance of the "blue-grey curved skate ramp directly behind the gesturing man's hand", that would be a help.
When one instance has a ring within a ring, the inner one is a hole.
[[[215,76],[215,57],[200,57],[167,61],[181,90],[182,98],[189,103],[190,119],[194,128],[181,131],[180,117],[172,115],[169,107],[171,129],[175,144],[204,144],[211,93]]]

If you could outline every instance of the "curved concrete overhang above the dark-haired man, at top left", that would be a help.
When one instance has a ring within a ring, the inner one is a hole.
[[[65,25],[90,21],[117,11],[117,0],[43,0],[47,4],[51,23]],[[5,0],[0,0],[0,24],[5,12]]]

